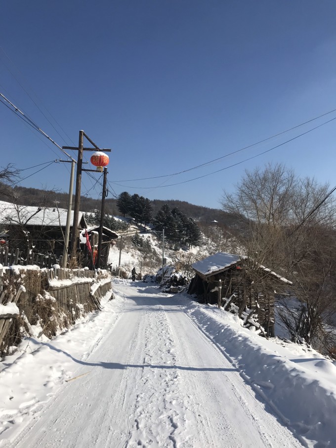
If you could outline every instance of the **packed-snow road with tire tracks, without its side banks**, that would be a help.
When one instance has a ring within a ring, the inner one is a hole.
[[[114,285],[122,313],[10,447],[301,447],[178,299]]]

